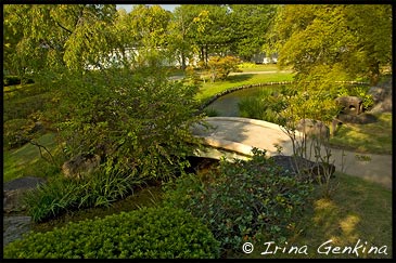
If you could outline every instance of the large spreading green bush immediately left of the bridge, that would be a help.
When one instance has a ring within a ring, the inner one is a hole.
[[[98,154],[110,170],[167,179],[183,166],[201,116],[195,86],[170,81],[163,68],[143,67],[69,76],[49,111],[68,156]]]

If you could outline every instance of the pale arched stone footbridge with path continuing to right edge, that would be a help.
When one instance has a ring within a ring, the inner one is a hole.
[[[247,159],[252,156],[253,147],[266,149],[267,156],[279,155],[280,148],[282,155],[293,154],[291,139],[276,123],[239,117],[208,117],[205,121],[208,129],[203,126],[192,128],[193,134],[202,137],[203,144],[207,146],[204,150],[197,150],[197,156],[216,159],[225,156],[231,161],[233,158]],[[296,137],[301,139],[302,133],[296,132]],[[314,155],[308,159],[315,160]],[[391,155],[362,155],[332,148],[330,161],[337,171],[392,187]]]

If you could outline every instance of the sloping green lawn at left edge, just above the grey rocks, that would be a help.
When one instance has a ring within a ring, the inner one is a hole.
[[[51,154],[54,154],[56,143],[53,133],[47,133],[39,137],[38,143],[46,146]],[[49,155],[41,149],[43,156],[49,158]],[[21,148],[14,150],[3,150],[3,182],[23,176],[51,176],[58,169],[47,162],[40,156],[40,150],[37,146],[25,144]]]

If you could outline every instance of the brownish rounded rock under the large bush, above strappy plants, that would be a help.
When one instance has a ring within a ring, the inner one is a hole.
[[[99,155],[77,155],[63,163],[62,172],[66,177],[81,179],[93,172],[99,167],[100,161]]]

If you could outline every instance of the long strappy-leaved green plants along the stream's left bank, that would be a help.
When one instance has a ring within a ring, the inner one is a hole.
[[[99,170],[85,180],[56,177],[26,194],[24,200],[35,222],[78,208],[111,206],[141,182],[130,174]]]

